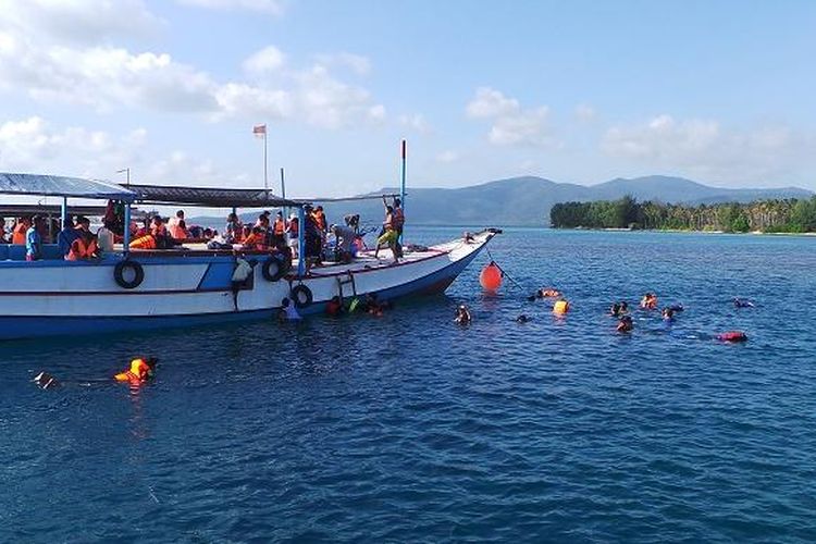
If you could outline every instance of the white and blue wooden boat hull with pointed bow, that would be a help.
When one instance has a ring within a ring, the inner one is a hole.
[[[273,319],[283,298],[289,297],[297,285],[306,286],[313,296],[312,304],[299,309],[304,316],[324,312],[326,302],[341,289],[346,298],[376,293],[387,300],[442,293],[493,234],[481,233],[470,244],[457,242],[430,248],[399,265],[387,265],[369,255],[350,267],[320,268],[312,275],[290,275],[277,282],[262,279],[259,261],[254,265],[251,287],[240,290],[237,298],[230,288],[232,257],[144,258],[139,262],[145,281],[135,289],[111,285],[113,268],[121,257],[84,269],[85,263],[76,267],[59,261],[0,263],[0,282],[16,286],[16,290],[0,293],[5,310],[0,317],[0,339]]]

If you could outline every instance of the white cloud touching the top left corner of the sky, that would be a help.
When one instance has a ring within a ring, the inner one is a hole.
[[[0,34],[14,32],[69,44],[144,37],[165,26],[143,0],[23,0],[0,2]]]

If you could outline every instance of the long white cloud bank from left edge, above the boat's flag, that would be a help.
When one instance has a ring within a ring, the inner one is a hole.
[[[45,28],[32,34],[0,32],[0,90],[98,112],[136,107],[198,112],[212,121],[273,119],[338,128],[385,119],[384,106],[368,90],[337,79],[324,65],[283,71],[285,54],[273,46],[243,63],[258,81],[219,82],[168,53],[66,46],[53,38]],[[346,53],[338,58],[353,63],[361,59]],[[275,82],[265,77],[273,72]]]

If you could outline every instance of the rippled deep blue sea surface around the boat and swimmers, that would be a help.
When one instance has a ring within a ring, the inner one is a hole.
[[[381,318],[0,345],[0,542],[816,540],[816,238],[508,230],[490,251],[497,296],[484,255]],[[546,286],[566,318],[526,300]],[[616,334],[610,302],[648,290],[685,311]],[[161,363],[135,393],[30,383],[137,354]]]

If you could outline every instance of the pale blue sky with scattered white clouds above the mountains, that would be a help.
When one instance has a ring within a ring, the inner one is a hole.
[[[816,189],[816,3],[0,0],[0,170]]]

